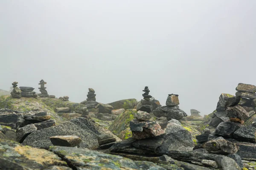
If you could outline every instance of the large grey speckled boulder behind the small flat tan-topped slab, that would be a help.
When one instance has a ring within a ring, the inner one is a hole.
[[[27,136],[23,144],[26,144],[32,147],[45,148],[45,147],[52,146],[52,143],[49,137],[74,135],[82,139],[80,147],[98,148],[99,147],[97,142],[98,136],[102,134],[108,134],[108,133],[113,134],[109,130],[96,124],[92,120],[79,117],[79,118],[64,122],[60,125],[55,125],[45,129],[37,130],[31,133],[29,136]],[[120,139],[117,137],[116,137],[116,140],[120,141]]]

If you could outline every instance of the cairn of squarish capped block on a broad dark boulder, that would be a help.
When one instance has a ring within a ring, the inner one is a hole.
[[[187,114],[179,108],[179,95],[169,94],[166,100],[166,106],[162,106],[153,111],[154,116],[157,117],[166,117],[167,120],[171,119],[182,119]]]

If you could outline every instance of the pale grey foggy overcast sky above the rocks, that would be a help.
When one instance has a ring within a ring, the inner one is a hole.
[[[1,0],[0,89],[12,82],[72,102],[179,94],[215,110],[239,82],[256,85],[256,0]]]

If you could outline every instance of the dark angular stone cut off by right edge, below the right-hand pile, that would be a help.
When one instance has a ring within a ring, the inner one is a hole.
[[[243,142],[256,142],[256,128],[255,127],[241,127],[234,132],[234,139]]]

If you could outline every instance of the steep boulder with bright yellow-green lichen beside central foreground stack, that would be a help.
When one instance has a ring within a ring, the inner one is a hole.
[[[135,109],[128,109],[121,113],[108,128],[112,133],[118,136],[120,139],[128,139],[131,135],[130,121],[135,119]]]

